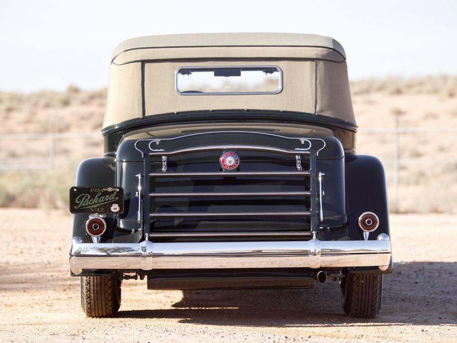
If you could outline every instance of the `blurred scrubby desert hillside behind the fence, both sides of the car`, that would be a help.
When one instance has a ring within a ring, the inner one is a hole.
[[[457,77],[367,79],[351,82],[359,134],[357,152],[376,155],[386,170],[390,208],[399,212],[457,213],[457,133],[400,135],[400,205],[393,189],[393,134],[401,127],[457,128]],[[0,92],[0,135],[5,133],[100,132],[106,89]],[[365,133],[364,133],[365,132]],[[101,136],[100,136],[101,137]],[[66,207],[67,189],[84,158],[100,156],[100,139],[56,142],[56,170],[0,174],[0,206]],[[46,139],[0,140],[0,164],[48,163]]]

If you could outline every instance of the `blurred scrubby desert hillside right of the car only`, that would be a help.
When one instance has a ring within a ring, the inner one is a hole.
[[[393,133],[371,129],[457,129],[457,77],[351,82],[359,134],[357,152],[376,155],[386,170],[390,208],[398,212],[457,213],[457,132],[399,137],[399,199],[393,188]],[[365,132],[365,133],[364,133]]]

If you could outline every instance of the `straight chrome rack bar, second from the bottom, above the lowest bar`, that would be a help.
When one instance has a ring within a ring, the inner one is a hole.
[[[296,212],[155,212],[150,213],[151,217],[282,217],[282,216],[310,216],[310,211]]]

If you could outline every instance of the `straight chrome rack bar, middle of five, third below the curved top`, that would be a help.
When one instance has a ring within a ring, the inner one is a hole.
[[[198,197],[309,197],[311,192],[189,192],[150,193],[153,198],[198,198]]]

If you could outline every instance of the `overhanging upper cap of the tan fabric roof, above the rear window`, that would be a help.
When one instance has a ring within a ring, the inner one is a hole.
[[[232,49],[227,49],[231,47]],[[341,62],[346,59],[340,43],[330,37],[306,34],[223,33],[145,36],[128,39],[113,51],[114,64],[134,60],[186,57],[314,57]],[[210,49],[204,49],[210,48]],[[176,51],[176,50],[175,50]],[[199,54],[200,52],[200,54]]]

